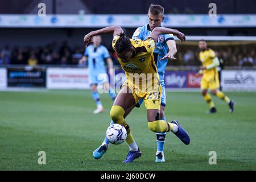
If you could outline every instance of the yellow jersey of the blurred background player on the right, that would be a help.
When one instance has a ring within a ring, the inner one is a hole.
[[[203,67],[207,67],[208,65],[213,63],[213,59],[216,57],[215,52],[212,49],[206,49],[205,51],[201,51],[200,54],[200,61],[203,64]],[[216,76],[218,73],[217,67],[212,69],[204,69],[203,76],[204,77],[213,77]]]

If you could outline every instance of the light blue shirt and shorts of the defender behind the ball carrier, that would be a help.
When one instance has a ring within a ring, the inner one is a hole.
[[[137,30],[133,34],[133,39],[141,39],[146,40],[148,36],[150,36],[151,30],[149,24],[137,28]],[[168,59],[160,60],[162,57],[164,57],[168,52],[168,46],[166,42],[168,40],[174,40],[174,35],[172,34],[166,34],[166,35],[159,35],[158,41],[156,42],[156,47],[154,50],[154,57],[155,55],[158,55],[158,59],[156,66],[158,68],[158,75],[160,78],[160,83],[162,86],[162,96],[161,96],[161,105],[166,106],[166,89],[164,86],[164,72],[166,70],[166,65],[168,63]],[[137,107],[139,107],[142,104],[143,100],[139,100]]]

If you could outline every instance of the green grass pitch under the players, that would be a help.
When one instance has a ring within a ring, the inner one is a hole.
[[[168,133],[166,163],[155,163],[156,137],[147,127],[146,110],[135,108],[126,118],[142,157],[131,164],[126,143],[110,145],[100,160],[92,152],[105,137],[112,101],[101,94],[105,113],[94,115],[89,90],[0,92],[1,170],[256,170],[256,93],[227,92],[236,101],[229,113],[225,102],[213,97],[217,113],[199,92],[168,92],[166,118],[178,119],[191,136],[185,146]],[[46,165],[38,152],[46,152]],[[209,151],[217,164],[210,165]]]

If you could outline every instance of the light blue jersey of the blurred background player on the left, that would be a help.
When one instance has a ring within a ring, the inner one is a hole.
[[[102,81],[102,79],[98,79],[98,75],[101,73],[106,74],[104,60],[110,57],[109,51],[104,46],[94,47],[93,45],[90,45],[85,49],[84,55],[88,58],[90,84],[98,84]]]

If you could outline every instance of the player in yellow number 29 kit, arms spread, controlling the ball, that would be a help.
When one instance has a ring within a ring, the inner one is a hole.
[[[131,135],[130,127],[125,121],[127,114],[141,98],[144,99],[148,128],[151,131],[155,133],[172,131],[183,143],[189,144],[190,137],[179,122],[166,122],[160,119],[162,88],[153,56],[155,42],[160,34],[174,34],[181,41],[185,40],[185,35],[171,28],[156,27],[146,40],[133,40],[125,36],[121,27],[112,26],[85,35],[85,46],[90,43],[93,36],[104,33],[113,33],[112,46],[117,52],[118,61],[127,77],[110,110],[112,121],[124,126],[127,131],[126,142],[129,144],[130,151],[123,163],[133,162],[134,159],[142,155]]]

